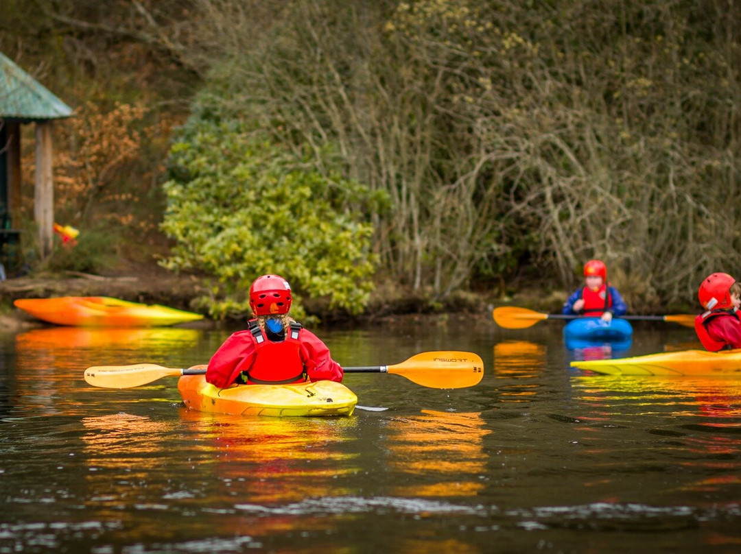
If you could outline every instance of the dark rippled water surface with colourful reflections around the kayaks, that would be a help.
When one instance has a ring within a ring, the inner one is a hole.
[[[739,552],[741,381],[568,368],[561,324],[318,330],[345,365],[471,350],[477,387],[345,378],[350,418],[186,410],[175,379],[102,390],[91,365],[204,363],[230,330],[0,336],[0,553]],[[697,346],[635,327],[637,355]]]

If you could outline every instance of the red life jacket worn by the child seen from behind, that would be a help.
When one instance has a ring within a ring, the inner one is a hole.
[[[288,384],[306,381],[301,360],[300,323],[291,322],[286,337],[273,342],[265,336],[256,320],[250,321],[250,333],[255,338],[255,361],[242,378],[248,384]]]

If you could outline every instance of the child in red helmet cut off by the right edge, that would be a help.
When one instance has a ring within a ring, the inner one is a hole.
[[[741,284],[728,273],[713,273],[700,284],[697,298],[706,310],[695,318],[702,346],[711,352],[741,348]]]

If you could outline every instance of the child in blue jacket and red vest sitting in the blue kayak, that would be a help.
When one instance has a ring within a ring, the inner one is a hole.
[[[607,282],[607,266],[590,260],[584,265],[586,286],[574,291],[563,305],[567,316],[588,316],[612,321],[612,316],[625,316],[628,307],[615,287]]]

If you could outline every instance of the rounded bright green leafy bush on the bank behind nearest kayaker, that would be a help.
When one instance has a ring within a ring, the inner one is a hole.
[[[329,157],[329,156],[328,156]],[[236,122],[191,119],[170,150],[163,265],[212,276],[212,316],[249,313],[251,281],[277,273],[301,295],[359,313],[372,289],[372,227],[353,204],[365,187]]]

